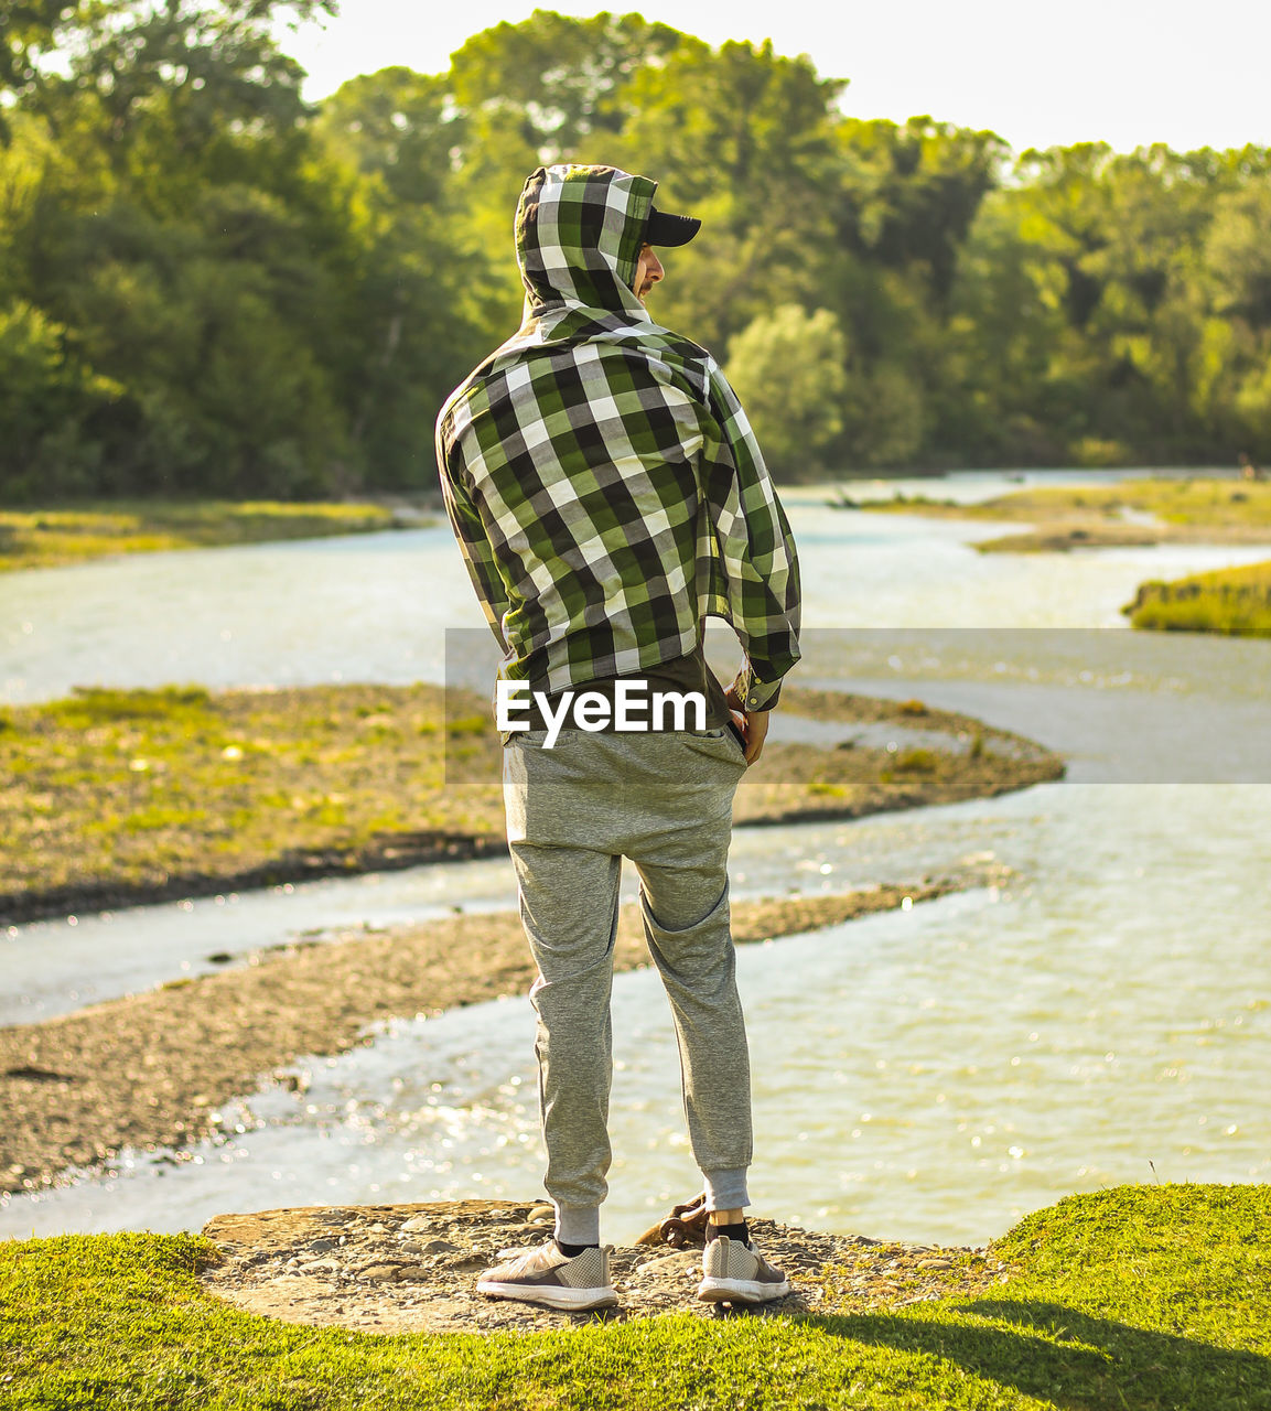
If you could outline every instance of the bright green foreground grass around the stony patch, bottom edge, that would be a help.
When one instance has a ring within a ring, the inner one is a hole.
[[[996,1246],[989,1295],[814,1316],[375,1336],[206,1295],[190,1235],[0,1245],[0,1401],[429,1411],[1265,1411],[1271,1192],[1119,1187]],[[825,1276],[837,1307],[835,1271]]]

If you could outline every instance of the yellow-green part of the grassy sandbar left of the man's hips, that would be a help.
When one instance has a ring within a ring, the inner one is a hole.
[[[498,841],[498,737],[477,696],[451,704],[464,715],[449,728],[436,686],[83,690],[11,708],[0,916],[406,865],[447,835]],[[487,783],[447,790],[447,749]]]

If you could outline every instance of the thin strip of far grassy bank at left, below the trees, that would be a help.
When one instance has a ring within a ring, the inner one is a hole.
[[[392,509],[371,504],[278,501],[111,501],[49,509],[0,509],[0,571],[83,563],[111,553],[197,549],[274,539],[394,529]]]

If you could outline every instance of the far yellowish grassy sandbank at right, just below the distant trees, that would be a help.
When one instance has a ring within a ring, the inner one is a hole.
[[[1158,543],[1271,543],[1271,484],[1216,478],[1040,485],[976,504],[896,495],[844,508],[1033,525],[975,545],[980,553],[1065,553]]]

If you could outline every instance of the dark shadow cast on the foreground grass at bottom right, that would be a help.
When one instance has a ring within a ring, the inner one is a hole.
[[[1271,1411],[1271,1357],[1258,1353],[1145,1332],[1062,1304],[980,1300],[959,1312],[986,1325],[884,1314],[805,1322],[835,1338],[930,1353],[1074,1411]]]

